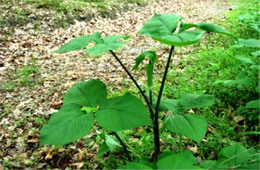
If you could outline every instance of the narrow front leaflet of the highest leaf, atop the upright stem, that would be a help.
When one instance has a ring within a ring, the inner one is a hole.
[[[204,31],[183,31],[176,35],[155,35],[152,38],[168,45],[186,46],[199,42],[204,33]]]

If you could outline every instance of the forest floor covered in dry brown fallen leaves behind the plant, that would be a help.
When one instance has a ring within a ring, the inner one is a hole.
[[[0,8],[6,13],[21,8],[20,3],[12,6],[1,3]],[[110,91],[122,92],[131,88],[131,81],[109,54],[97,58],[86,56],[83,51],[53,54],[53,50],[74,37],[99,31],[102,35],[130,35],[127,45],[117,51],[128,68],[141,52],[149,49],[158,51],[160,60],[164,61],[162,56],[168,53],[166,46],[138,36],[142,25],[154,13],[177,14],[186,22],[196,23],[211,22],[216,16],[224,19],[221,13],[230,8],[226,1],[153,0],[141,6],[133,5],[124,12],[113,10],[112,18],[95,14],[89,21],[73,19],[64,27],[50,22],[55,20],[55,13],[39,8],[30,17],[47,14],[48,17],[37,21],[37,27],[34,19],[22,25],[3,24],[0,27],[0,169],[81,168],[85,162],[90,169],[100,168],[98,160],[94,160],[98,150],[95,143],[90,150],[84,140],[67,147],[39,147],[39,130],[50,114],[61,107],[64,93],[74,83],[101,79],[111,85]],[[173,62],[191,50],[192,47],[184,51],[177,49]],[[160,73],[156,70],[156,74]],[[144,83],[144,72],[135,75],[140,84]]]

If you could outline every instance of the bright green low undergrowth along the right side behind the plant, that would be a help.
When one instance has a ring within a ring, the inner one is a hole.
[[[225,14],[225,18],[224,21],[216,22],[228,28],[235,36],[259,39],[259,32],[251,27],[255,23],[259,29],[257,1],[240,1],[236,9]],[[209,129],[198,151],[198,155],[203,155],[203,158],[216,159],[216,153],[223,146],[239,142],[246,147],[256,147],[259,143],[259,112],[246,108],[248,101],[257,99],[255,88],[259,81],[259,71],[250,71],[250,65],[241,64],[236,56],[249,57],[256,63],[259,63],[259,58],[251,55],[256,48],[238,48],[234,40],[224,36],[208,36],[206,42],[212,43],[212,48],[200,44],[197,52],[183,57],[171,69],[168,75],[171,83],[165,93],[174,98],[188,92],[216,96],[213,107],[199,111],[209,121]],[[243,71],[249,71],[252,77],[252,82],[246,86],[216,83],[217,80],[234,80]]]

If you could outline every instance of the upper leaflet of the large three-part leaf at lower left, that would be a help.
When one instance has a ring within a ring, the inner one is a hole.
[[[73,85],[64,97],[64,105],[77,103],[97,108],[107,96],[106,86],[100,80],[89,80]]]

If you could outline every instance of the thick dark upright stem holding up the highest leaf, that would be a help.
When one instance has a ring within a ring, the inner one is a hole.
[[[170,66],[173,51],[174,51],[174,46],[172,46],[170,49],[168,61],[167,61],[166,67],[165,67],[165,71],[164,71],[164,75],[162,78],[161,87],[160,87],[160,91],[158,94],[157,103],[156,103],[156,107],[155,107],[154,122],[153,122],[153,124],[154,124],[154,145],[155,145],[154,160],[157,160],[157,157],[160,154],[160,132],[159,132],[159,123],[158,123],[159,107],[160,107],[162,92],[163,92],[164,84],[166,81],[166,77],[167,77],[168,69]]]

